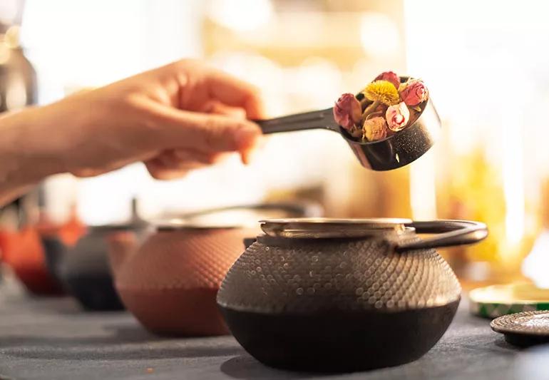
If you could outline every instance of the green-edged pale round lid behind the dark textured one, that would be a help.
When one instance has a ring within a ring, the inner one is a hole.
[[[497,318],[518,312],[549,310],[549,289],[534,284],[493,285],[469,293],[471,313],[484,318]]]

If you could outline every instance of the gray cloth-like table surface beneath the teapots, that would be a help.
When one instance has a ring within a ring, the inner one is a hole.
[[[322,375],[279,371],[232,337],[166,339],[126,312],[82,312],[72,299],[0,286],[0,379],[549,379],[549,348],[519,350],[462,301],[423,358],[389,369]]]

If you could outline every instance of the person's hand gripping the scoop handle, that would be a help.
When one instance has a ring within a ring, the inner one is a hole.
[[[45,174],[87,177],[143,161],[167,180],[229,152],[247,163],[261,135],[247,119],[261,117],[255,88],[185,60],[8,116],[0,126],[19,120],[11,153],[41,158],[35,164]]]

